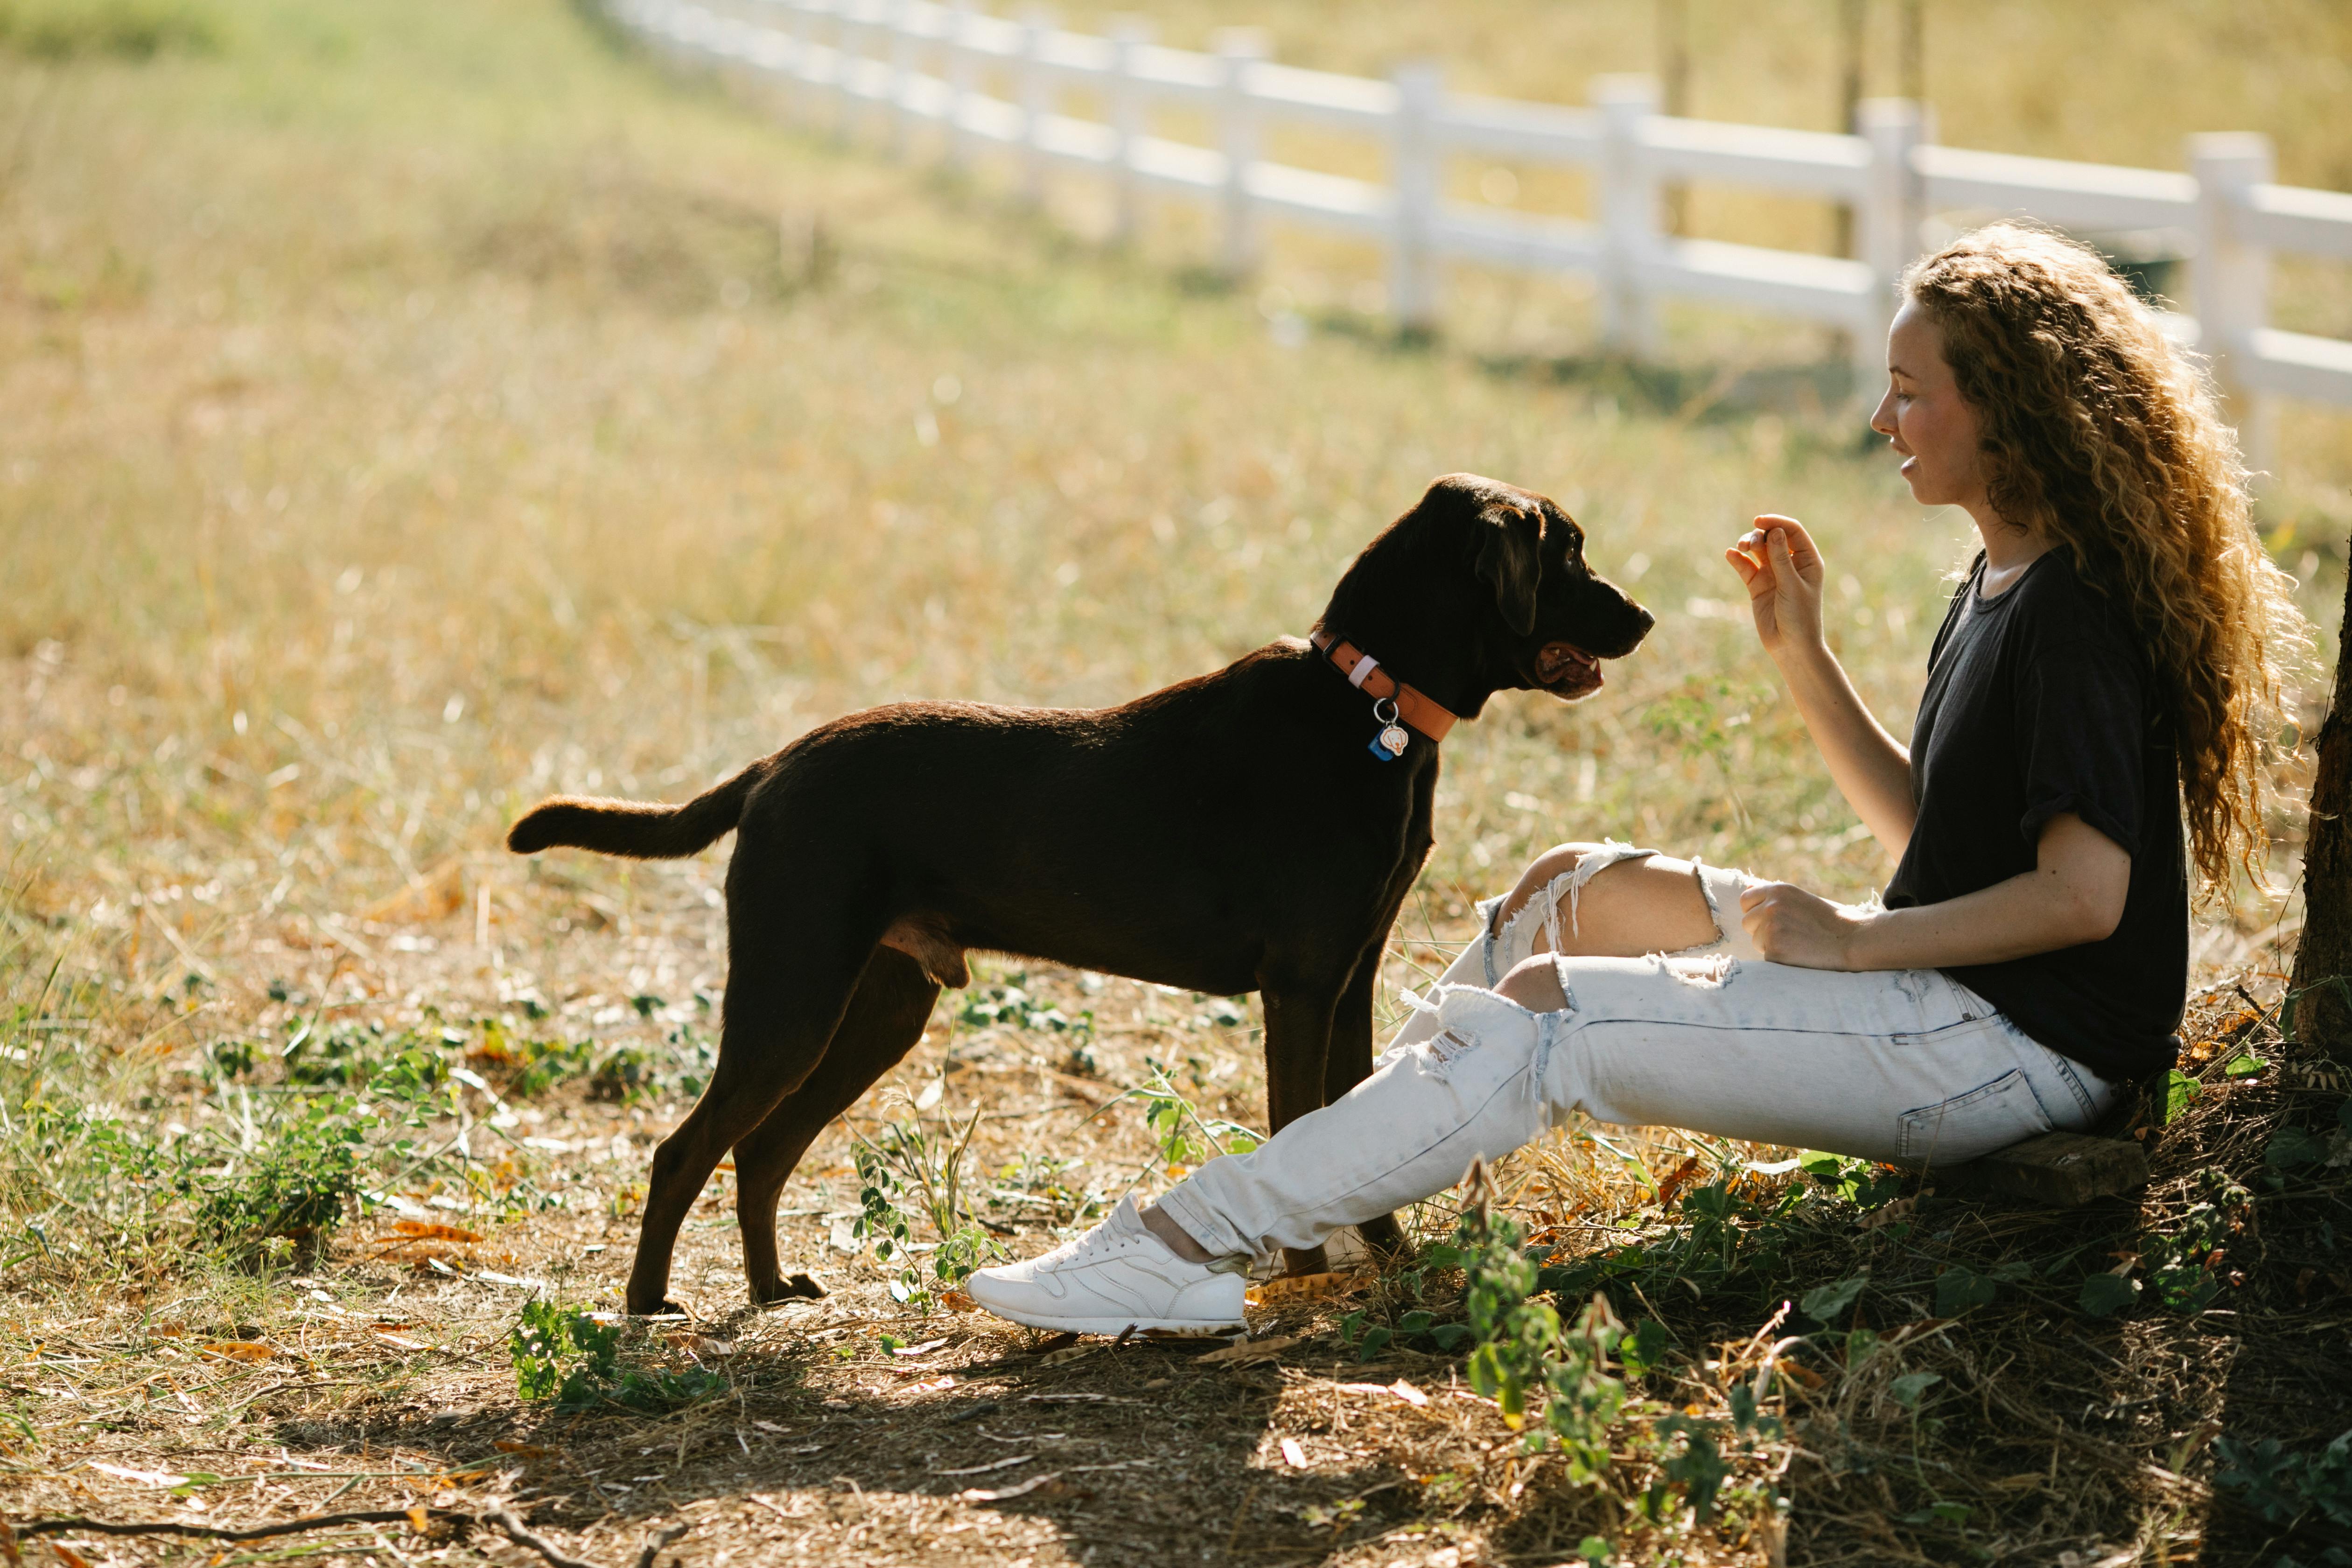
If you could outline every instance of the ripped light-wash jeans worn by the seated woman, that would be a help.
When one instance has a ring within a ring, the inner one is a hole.
[[[1501,900],[1479,905],[1489,936],[1439,985],[1491,987],[1545,922],[1571,917],[1573,905],[1555,910],[1595,870],[1646,853],[1588,853],[1599,865],[1555,879],[1529,903],[1534,914],[1501,931]],[[1738,924],[1738,891],[1752,879],[1717,867],[1698,877],[1715,943],[1642,959],[1557,957],[1566,1009],[1524,1013],[1494,999],[1534,1027],[1468,1032],[1416,1011],[1343,1100],[1249,1154],[1211,1159],[1160,1206],[1211,1253],[1270,1258],[1444,1192],[1472,1159],[1498,1159],[1578,1112],[1947,1166],[2082,1131],[2114,1100],[2112,1084],[1940,971],[1766,961]]]

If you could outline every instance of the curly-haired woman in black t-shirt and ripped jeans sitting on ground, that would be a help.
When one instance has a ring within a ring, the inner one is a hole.
[[[1903,294],[1870,425],[1983,545],[1910,748],[1823,642],[1806,529],[1757,517],[1724,552],[1898,860],[1884,905],[1564,844],[1479,905],[1484,940],[1352,1093],[981,1269],[974,1300],[1077,1333],[1228,1328],[1254,1258],[1442,1192],[1569,1112],[1929,1166],[2086,1128],[2173,1063],[2187,863],[2225,893],[2267,849],[2260,752],[2310,628],[2211,393],[2093,252],[2002,223]]]

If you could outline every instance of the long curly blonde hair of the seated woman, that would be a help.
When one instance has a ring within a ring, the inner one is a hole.
[[[2253,534],[2213,388],[2098,252],[1990,223],[1903,275],[1978,421],[1987,501],[2131,614],[2171,701],[2199,891],[2263,886],[2263,762],[2312,628]]]

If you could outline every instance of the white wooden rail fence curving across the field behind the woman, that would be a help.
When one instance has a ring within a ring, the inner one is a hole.
[[[1145,190],[1207,202],[1221,266],[1244,275],[1268,219],[1357,235],[1388,249],[1388,301],[1399,327],[1437,320],[1439,261],[1463,259],[1599,282],[1602,331],[1630,355],[1658,343],[1658,301],[1769,310],[1851,331],[1860,386],[1884,376],[1896,277],[1919,252],[1931,212],[2023,214],[2070,230],[2185,230],[2194,237],[2194,315],[2171,331],[2211,357],[2239,400],[2260,454],[2270,395],[2352,407],[2352,341],[2270,327],[2270,254],[2352,261],[2352,195],[2272,183],[2270,141],[2187,139],[2187,174],[1969,153],[1933,146],[1919,106],[1863,103],[1860,134],[1790,132],[1658,113],[1651,78],[1604,75],[1592,108],[1451,94],[1437,66],[1406,63],[1385,82],[1301,71],[1268,59],[1263,35],[1225,31],[1214,54],[1167,49],[1143,24],[1110,38],[1068,33],[1033,12],[1007,21],[971,0],[609,0],[612,12],[682,59],[786,82],[804,113],[840,134],[882,120],[894,150],[917,122],[941,127],[950,160],[981,146],[1014,150],[1021,188],[1040,197],[1049,165],[1112,181],[1115,223],[1131,235]],[[1016,99],[988,96],[981,75]],[[1108,122],[1063,113],[1082,89]],[[1204,113],[1216,146],[1148,134],[1155,106]],[[1376,139],[1388,183],[1261,158],[1270,122]],[[1449,155],[1581,165],[1595,176],[1597,221],[1444,200]],[[1663,183],[1757,186],[1844,202],[1858,259],[1684,240],[1661,226]]]

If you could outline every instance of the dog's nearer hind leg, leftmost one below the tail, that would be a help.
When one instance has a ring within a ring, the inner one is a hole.
[[[729,891],[739,884],[729,875]],[[637,1260],[628,1269],[630,1312],[675,1312],[668,1302],[670,1251],[677,1227],[710,1171],[741,1138],[767,1121],[776,1105],[807,1081],[826,1056],[849,997],[873,952],[873,933],[851,945],[807,922],[746,919],[729,900],[727,1011],[720,1060],[710,1086],[677,1131],[654,1150]]]

